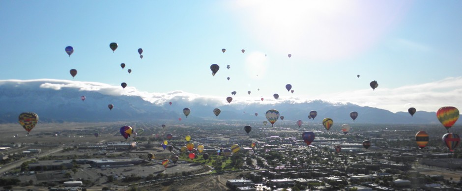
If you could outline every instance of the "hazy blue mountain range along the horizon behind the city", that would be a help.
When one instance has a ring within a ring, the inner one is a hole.
[[[107,84],[92,84],[64,80],[32,80],[0,82],[0,123],[18,121],[22,112],[35,112],[40,122],[108,122],[108,121],[156,121],[178,120],[182,122],[200,122],[206,120],[266,120],[265,112],[277,109],[284,121],[308,121],[311,110],[318,112],[315,122],[323,118],[332,118],[334,123],[352,123],[349,113],[356,111],[359,116],[354,123],[371,124],[439,124],[435,112],[417,111],[414,116],[407,112],[393,113],[385,109],[361,107],[350,103],[331,103],[312,100],[303,103],[283,100],[273,104],[251,103],[219,104],[211,98],[188,99],[177,95],[155,102],[147,101],[133,92],[112,91],[119,88]],[[99,85],[99,86],[98,86]],[[99,87],[99,88],[94,88]],[[116,93],[114,93],[116,92]],[[85,101],[80,97],[86,96]],[[173,102],[172,105],[169,102]],[[113,104],[112,110],[108,105]],[[190,108],[186,118],[182,113]],[[212,112],[220,108],[218,117]],[[258,116],[255,116],[258,113]],[[460,123],[460,122],[459,122]],[[457,123],[456,123],[457,125]]]

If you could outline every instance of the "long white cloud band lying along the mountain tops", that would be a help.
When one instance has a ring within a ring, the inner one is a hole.
[[[120,86],[114,86],[99,82],[78,82],[67,80],[2,80],[0,85],[12,84],[15,86],[27,86],[28,88],[40,87],[60,90],[62,88],[76,88],[81,91],[97,91],[102,94],[112,96],[140,96],[146,101],[156,105],[167,105],[169,102],[194,102],[203,106],[220,107],[228,105],[227,96],[207,96],[187,93],[183,91],[171,91],[166,93],[138,91],[135,87],[127,86],[122,89]],[[320,95],[319,100],[335,103],[346,104],[352,103],[359,106],[370,106],[380,109],[387,109],[392,112],[407,111],[409,107],[417,110],[436,111],[443,106],[454,106],[462,108],[462,77],[451,77],[443,80],[407,85],[398,88],[380,88],[375,91],[372,89],[363,89],[351,92],[339,92],[337,94]],[[233,97],[231,107],[241,108],[247,105],[264,104],[297,104],[312,102],[300,97],[281,96],[279,99],[260,97]]]

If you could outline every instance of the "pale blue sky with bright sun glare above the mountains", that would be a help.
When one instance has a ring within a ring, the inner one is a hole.
[[[223,102],[237,91],[236,101],[278,93],[392,111],[461,108],[460,7],[456,0],[2,0],[0,80],[126,82]],[[66,46],[74,47],[70,57]],[[70,69],[78,70],[74,79]]]

